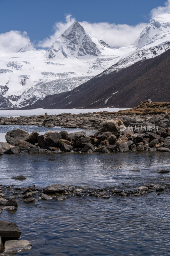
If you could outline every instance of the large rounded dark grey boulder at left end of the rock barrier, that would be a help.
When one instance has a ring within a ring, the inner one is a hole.
[[[5,135],[5,139],[9,144],[15,146],[15,144],[19,140],[25,140],[28,135],[29,135],[28,132],[22,129],[16,129],[16,130],[7,132],[7,134]]]

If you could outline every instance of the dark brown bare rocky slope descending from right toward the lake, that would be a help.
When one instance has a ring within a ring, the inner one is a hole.
[[[170,100],[170,50],[121,71],[92,78],[70,92],[48,95],[26,108],[106,108]]]

